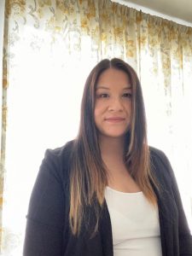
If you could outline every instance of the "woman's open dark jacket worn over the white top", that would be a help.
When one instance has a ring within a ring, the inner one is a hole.
[[[113,256],[111,222],[106,202],[98,232],[93,209],[79,237],[69,229],[69,163],[72,143],[47,150],[32,190],[26,224],[24,256]],[[160,183],[158,198],[160,237],[163,256],[192,255],[192,238],[183,212],[172,167],[160,150],[150,148],[154,175]]]

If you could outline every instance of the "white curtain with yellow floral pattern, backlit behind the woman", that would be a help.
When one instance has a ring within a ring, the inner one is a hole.
[[[192,28],[109,0],[7,0],[4,24],[3,255],[22,254],[44,151],[76,136],[84,81],[103,58],[136,69],[148,142],[170,157],[191,224]]]

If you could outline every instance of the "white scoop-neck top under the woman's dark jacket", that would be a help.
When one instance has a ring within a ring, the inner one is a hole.
[[[111,218],[114,256],[162,256],[158,207],[143,192],[124,193],[109,187],[105,199]]]

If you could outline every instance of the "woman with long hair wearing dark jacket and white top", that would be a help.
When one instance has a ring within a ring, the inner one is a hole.
[[[192,255],[172,167],[148,147],[141,85],[125,61],[93,68],[78,137],[46,151],[24,255]]]

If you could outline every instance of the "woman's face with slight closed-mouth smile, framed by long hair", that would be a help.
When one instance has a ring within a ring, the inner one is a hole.
[[[96,128],[104,137],[124,137],[131,125],[131,84],[121,70],[108,68],[96,84]]]

